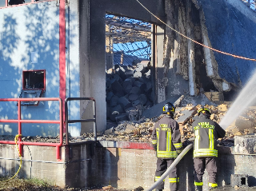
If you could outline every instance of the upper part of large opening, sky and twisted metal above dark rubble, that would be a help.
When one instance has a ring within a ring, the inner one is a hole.
[[[106,70],[151,58],[151,24],[106,14]]]

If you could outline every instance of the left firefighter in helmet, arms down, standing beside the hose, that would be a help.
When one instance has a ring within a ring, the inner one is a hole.
[[[182,151],[179,125],[174,120],[174,105],[170,102],[166,103],[162,108],[162,113],[163,117],[155,123],[152,131],[152,143],[158,158],[154,181],[158,181]],[[177,171],[177,167],[174,167],[169,174],[171,191],[178,190],[179,177]],[[164,189],[164,181],[158,184],[156,189]]]

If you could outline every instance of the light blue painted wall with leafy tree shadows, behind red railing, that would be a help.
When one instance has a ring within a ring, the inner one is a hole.
[[[66,16],[76,11],[75,9],[66,10]],[[67,96],[77,97],[79,95],[79,56],[73,52],[78,52],[78,39],[76,39],[78,33],[75,30],[78,19],[74,19],[66,20],[69,26],[66,27],[66,89]],[[59,97],[58,22],[56,1],[0,10],[0,98],[19,97],[22,90],[22,70],[46,70],[46,92],[42,97]],[[71,29],[70,26],[73,28]],[[37,59],[32,58],[31,54],[35,54]],[[70,59],[70,56],[73,58]],[[70,84],[72,88],[69,88]],[[17,119],[16,103],[0,102],[0,117]],[[38,106],[22,106],[22,119],[58,120],[58,101],[40,101]],[[79,131],[79,126],[76,126],[76,131]],[[0,134],[15,135],[17,133],[17,124],[0,124]],[[22,124],[22,136],[57,136],[58,133],[59,125]]]

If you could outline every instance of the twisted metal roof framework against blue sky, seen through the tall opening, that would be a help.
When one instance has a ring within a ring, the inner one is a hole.
[[[106,39],[112,42],[109,49],[114,54],[130,55],[139,59],[150,59],[151,24],[133,18],[106,14]]]

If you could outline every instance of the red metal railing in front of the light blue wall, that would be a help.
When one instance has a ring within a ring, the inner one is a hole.
[[[22,145],[38,145],[38,146],[56,146],[56,157],[61,159],[60,147],[63,144],[63,121],[62,121],[62,99],[58,97],[40,97],[40,98],[2,98],[0,101],[18,101],[18,119],[0,119],[0,122],[18,123],[18,134],[22,135],[22,123],[54,123],[59,124],[59,143],[48,142],[29,142],[22,141],[22,137],[18,137],[18,149],[22,155]],[[21,101],[58,101],[59,102],[59,120],[23,120]],[[0,141],[0,144],[15,145],[15,141]]]

